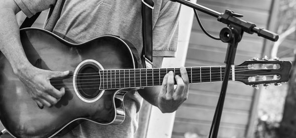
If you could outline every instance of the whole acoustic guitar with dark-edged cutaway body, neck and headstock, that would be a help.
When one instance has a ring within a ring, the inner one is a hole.
[[[104,35],[73,44],[40,28],[20,30],[29,61],[38,68],[70,70],[68,78],[50,80],[65,87],[65,95],[50,108],[39,109],[7,59],[0,55],[0,121],[16,138],[50,138],[65,128],[88,120],[102,125],[120,124],[125,117],[124,94],[139,87],[161,85],[169,71],[180,68],[140,68],[137,50],[128,41]],[[232,66],[229,81],[247,85],[287,82],[290,61],[251,59]],[[221,82],[224,66],[186,67],[189,83]]]

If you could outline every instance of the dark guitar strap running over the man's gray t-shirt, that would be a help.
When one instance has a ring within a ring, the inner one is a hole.
[[[152,68],[152,9],[154,2],[152,0],[142,0],[142,31],[143,31],[143,50],[142,63],[144,68]],[[21,28],[30,28],[41,12],[36,13],[31,18],[26,17],[20,26]]]

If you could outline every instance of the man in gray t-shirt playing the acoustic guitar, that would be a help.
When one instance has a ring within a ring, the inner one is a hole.
[[[42,70],[29,63],[20,42],[15,14],[22,10],[31,17],[53,5],[45,29],[69,42],[81,43],[100,35],[112,34],[129,40],[140,55],[143,46],[141,0],[0,0],[0,50],[40,108],[50,108],[64,95],[65,89],[54,88],[49,79],[65,77],[69,71]],[[154,0],[153,61],[156,67],[161,66],[164,56],[175,54],[179,11],[178,3]],[[128,92],[124,99],[126,119],[122,124],[102,126],[85,121],[64,137],[133,138],[138,127],[141,96],[162,112],[173,112],[185,101],[188,76],[184,67],[181,74],[174,76],[170,72],[164,77],[162,86]],[[174,78],[177,81],[176,89]]]

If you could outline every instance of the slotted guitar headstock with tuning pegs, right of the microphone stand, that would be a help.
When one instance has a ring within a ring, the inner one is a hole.
[[[268,86],[272,83],[281,85],[289,81],[291,67],[291,61],[279,60],[279,58],[268,60],[267,56],[259,60],[254,57],[235,66],[235,81],[253,87],[258,87],[259,84]]]

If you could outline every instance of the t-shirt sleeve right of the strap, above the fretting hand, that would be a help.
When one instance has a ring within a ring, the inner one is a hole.
[[[167,0],[162,4],[153,28],[153,56],[176,56],[180,8],[178,2]]]

